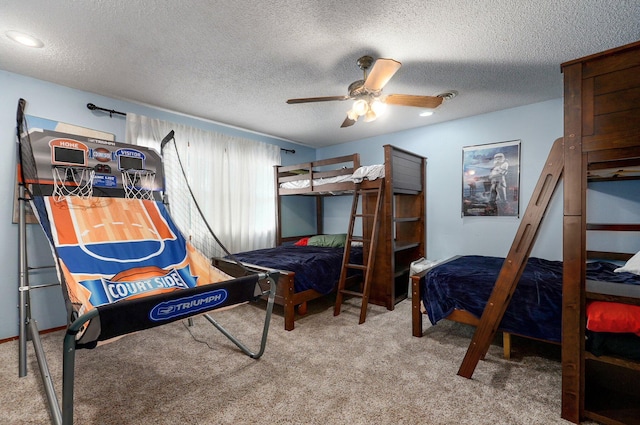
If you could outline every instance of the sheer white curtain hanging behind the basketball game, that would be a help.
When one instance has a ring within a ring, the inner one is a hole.
[[[136,114],[127,114],[127,143],[155,148],[175,132],[174,146],[164,148],[166,191],[171,215],[194,245],[206,248],[210,235],[198,223],[182,170],[206,221],[231,251],[242,252],[275,244],[274,165],[280,164],[280,148],[220,133],[204,131]]]

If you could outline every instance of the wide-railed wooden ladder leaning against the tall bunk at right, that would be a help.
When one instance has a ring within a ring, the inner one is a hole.
[[[545,167],[533,191],[529,205],[522,217],[509,254],[500,269],[491,296],[473,334],[467,353],[464,356],[458,375],[471,378],[481,358],[484,358],[502,321],[509,300],[518,280],[527,265],[529,254],[535,243],[540,223],[551,201],[556,186],[564,170],[564,144],[559,138],[551,147]]]

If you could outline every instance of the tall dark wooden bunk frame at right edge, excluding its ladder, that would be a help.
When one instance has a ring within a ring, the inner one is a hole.
[[[589,281],[585,279],[585,264],[592,257],[628,258],[624,254],[590,251],[588,233],[640,231],[638,223],[590,223],[586,209],[590,181],[638,178],[620,171],[640,167],[640,42],[564,63],[562,72],[562,417],[575,423],[589,418],[606,424],[638,424],[640,361],[616,355],[596,356],[585,350],[585,334],[587,306],[592,300],[637,306],[640,286]],[[607,169],[615,173],[604,173]]]

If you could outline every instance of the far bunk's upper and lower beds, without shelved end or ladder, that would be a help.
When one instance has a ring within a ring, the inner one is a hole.
[[[361,166],[359,154],[276,166],[276,247],[235,253],[229,257],[258,269],[279,271],[275,303],[284,309],[285,330],[294,329],[296,313],[306,314],[308,301],[334,292],[338,285],[346,234],[323,233],[323,198],[352,196],[358,184],[366,186],[369,181],[384,178],[385,173],[381,164]],[[282,198],[291,195],[315,198],[316,234],[282,236]],[[351,262],[361,262],[363,247],[352,246],[350,249]],[[227,257],[212,258],[212,262],[223,270],[236,269]],[[354,273],[349,276],[347,284],[357,285],[359,280],[358,273]]]

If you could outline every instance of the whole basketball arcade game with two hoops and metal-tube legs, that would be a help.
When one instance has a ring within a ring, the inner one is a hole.
[[[238,264],[241,276],[231,276],[213,267],[184,238],[161,201],[163,161],[155,151],[48,130],[29,131],[24,107],[20,99],[19,376],[27,374],[26,346],[31,339],[52,422],[73,423],[76,348],[93,348],[99,341],[176,320],[188,319],[191,324],[192,316],[203,314],[246,355],[261,357],[277,272]],[[29,286],[27,202],[50,242],[67,307],[62,407],[29,307],[29,292],[36,287]],[[222,244],[219,248],[228,254]],[[265,295],[267,310],[257,352],[207,313]]]

